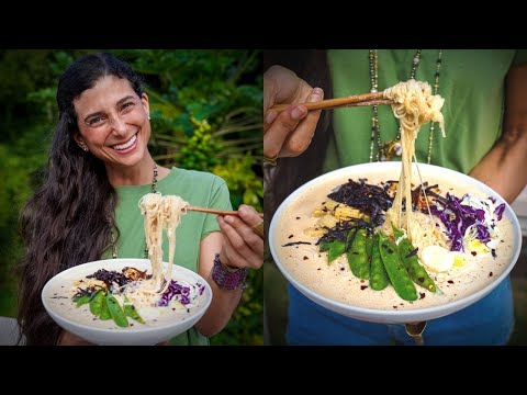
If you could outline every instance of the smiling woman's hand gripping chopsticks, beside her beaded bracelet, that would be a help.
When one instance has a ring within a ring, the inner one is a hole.
[[[224,241],[220,261],[235,268],[259,269],[264,264],[264,239],[253,227],[262,222],[249,205],[238,207],[238,216],[217,216]]]

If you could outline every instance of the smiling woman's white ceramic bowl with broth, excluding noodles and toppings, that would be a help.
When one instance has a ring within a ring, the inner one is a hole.
[[[208,282],[198,273],[177,264],[172,268],[172,279],[191,284],[203,284],[204,291],[198,296],[198,305],[190,308],[189,313],[182,316],[170,317],[170,319],[159,320],[158,324],[147,323],[142,325],[135,323],[134,326],[127,328],[120,328],[116,325],[113,325],[112,328],[101,328],[90,323],[93,316],[89,311],[86,312],[87,316],[89,316],[88,319],[79,323],[67,313],[64,313],[63,309],[57,308],[57,303],[59,302],[72,304],[70,300],[52,298],[54,296],[52,290],[56,290],[57,286],[64,285],[66,289],[69,289],[72,281],[92,274],[99,269],[121,271],[124,267],[148,270],[152,273],[150,261],[147,259],[108,259],[79,264],[58,273],[46,283],[42,290],[42,303],[47,313],[60,327],[101,346],[149,346],[167,341],[191,328],[203,316],[211,304],[212,290]],[[130,319],[130,321],[132,320]]]

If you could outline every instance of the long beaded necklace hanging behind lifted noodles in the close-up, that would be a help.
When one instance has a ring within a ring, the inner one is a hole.
[[[415,52],[414,58],[412,59],[412,68],[410,70],[410,78],[415,79],[415,74],[417,71],[417,66],[421,63],[422,49]],[[439,90],[439,71],[441,69],[441,58],[442,49],[439,49],[436,60],[436,72],[434,75],[434,94],[437,94]],[[377,49],[369,50],[369,66],[370,66],[370,92],[374,93],[379,89],[379,54]],[[434,122],[430,122],[430,131],[428,135],[428,156],[427,163],[431,161],[431,148],[434,145]],[[377,154],[375,151],[375,142],[377,142]],[[372,105],[372,117],[371,117],[371,139],[370,139],[370,162],[373,161],[373,158],[377,161],[391,160],[393,156],[401,156],[402,146],[401,146],[401,127],[399,128],[397,136],[394,140],[388,140],[382,143],[381,140],[381,128],[379,125],[379,108],[378,105]]]

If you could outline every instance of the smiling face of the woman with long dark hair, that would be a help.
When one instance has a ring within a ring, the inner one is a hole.
[[[148,97],[125,78],[106,76],[74,101],[79,133],[75,139],[109,167],[139,162],[150,137]]]

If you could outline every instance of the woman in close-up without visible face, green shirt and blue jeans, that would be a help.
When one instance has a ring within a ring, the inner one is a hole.
[[[396,139],[399,127],[388,105],[321,114],[307,112],[302,103],[380,91],[412,77],[427,81],[445,98],[447,138],[440,137],[437,125],[423,126],[416,140],[418,161],[468,173],[511,203],[527,183],[525,60],[525,53],[513,49],[266,52],[264,151],[268,162],[278,163],[266,167],[266,211],[272,214],[295,188],[323,172],[381,160],[385,144]],[[293,104],[278,114],[270,108],[279,103]],[[513,328],[507,278],[480,302],[429,321],[424,337],[427,345],[505,345]],[[402,325],[340,316],[292,286],[287,340],[291,345],[413,342]]]

